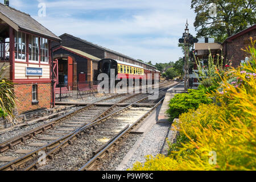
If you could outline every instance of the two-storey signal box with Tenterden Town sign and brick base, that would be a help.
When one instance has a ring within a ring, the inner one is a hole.
[[[29,14],[0,3],[0,66],[14,82],[18,114],[51,107],[51,44],[61,39]]]

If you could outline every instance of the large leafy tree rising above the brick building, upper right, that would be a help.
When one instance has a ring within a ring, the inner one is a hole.
[[[214,37],[223,42],[229,36],[256,23],[255,0],[192,0],[197,37]]]

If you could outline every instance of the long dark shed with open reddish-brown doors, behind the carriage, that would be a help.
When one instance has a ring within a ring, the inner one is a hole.
[[[62,40],[60,44],[52,44],[53,59],[59,61],[59,82],[97,81],[98,61],[101,59],[115,59],[146,69],[156,69],[152,65],[73,35],[63,34],[59,38]]]

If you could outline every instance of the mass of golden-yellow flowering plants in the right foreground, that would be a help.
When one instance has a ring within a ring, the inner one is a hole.
[[[255,47],[251,54],[254,51]],[[154,170],[161,170],[168,161],[174,166],[170,170],[255,171],[256,72],[252,63],[229,69],[221,77],[222,93],[208,94],[220,106],[200,104],[180,115],[174,123],[180,137],[170,144],[170,155],[148,159],[146,166],[137,169],[151,170],[152,164]],[[234,78],[239,80],[236,85],[230,83]]]

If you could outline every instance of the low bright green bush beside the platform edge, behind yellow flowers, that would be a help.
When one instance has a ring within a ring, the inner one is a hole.
[[[188,93],[176,94],[170,101],[170,109],[167,110],[170,115],[170,121],[178,118],[180,114],[186,113],[189,109],[197,109],[201,103],[212,103],[212,100],[208,98],[204,90],[189,89]]]

